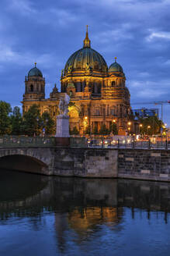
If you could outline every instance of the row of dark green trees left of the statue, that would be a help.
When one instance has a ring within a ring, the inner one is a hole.
[[[22,116],[19,107],[12,109],[5,101],[0,101],[0,135],[53,134],[54,121],[49,112],[40,115],[38,105],[32,105]]]

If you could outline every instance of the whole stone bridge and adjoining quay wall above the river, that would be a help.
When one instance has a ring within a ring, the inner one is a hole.
[[[33,146],[33,141],[10,145],[9,140],[8,144],[4,141],[3,146],[0,141],[0,168],[56,176],[170,182],[168,149],[78,148],[76,144],[64,148],[53,144],[49,138],[34,142]]]

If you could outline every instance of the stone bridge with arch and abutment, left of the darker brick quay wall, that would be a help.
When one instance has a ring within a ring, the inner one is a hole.
[[[0,148],[0,168],[44,175],[116,177],[117,151],[88,148]]]

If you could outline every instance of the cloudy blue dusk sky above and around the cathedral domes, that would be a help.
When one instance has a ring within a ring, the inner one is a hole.
[[[170,100],[169,13],[170,0],[1,0],[0,100],[21,105],[34,62],[46,79],[46,98],[55,83],[60,89],[61,69],[82,48],[87,24],[92,48],[108,66],[116,56],[123,67],[131,102]],[[132,105],[144,106],[158,108]],[[169,111],[165,105],[170,126]]]

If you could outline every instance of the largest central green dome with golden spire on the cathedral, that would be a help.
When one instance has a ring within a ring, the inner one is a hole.
[[[99,71],[100,73],[106,72],[108,66],[105,59],[99,52],[91,48],[91,42],[88,38],[88,30],[84,40],[84,46],[77,52],[73,53],[64,68],[64,75],[72,71]]]

